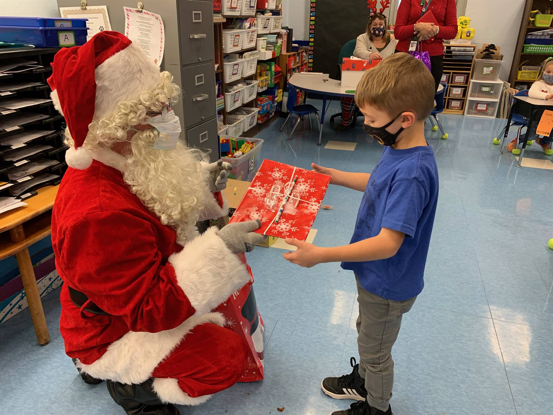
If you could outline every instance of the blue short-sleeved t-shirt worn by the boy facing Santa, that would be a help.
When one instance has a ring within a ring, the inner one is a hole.
[[[342,262],[368,292],[389,300],[406,300],[424,287],[424,266],[438,200],[438,169],[430,146],[397,150],[385,147],[369,178],[351,243],[386,227],[405,239],[392,258]]]

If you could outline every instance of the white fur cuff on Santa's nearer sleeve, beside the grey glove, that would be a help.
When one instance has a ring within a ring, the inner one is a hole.
[[[169,257],[196,314],[209,313],[250,279],[244,264],[212,227]]]

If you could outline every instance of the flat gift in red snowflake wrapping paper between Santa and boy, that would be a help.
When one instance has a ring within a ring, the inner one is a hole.
[[[293,184],[296,175],[298,180]],[[229,222],[258,219],[261,227],[255,231],[257,234],[305,241],[330,179],[326,174],[265,159]],[[292,193],[275,224],[290,186],[293,186]]]

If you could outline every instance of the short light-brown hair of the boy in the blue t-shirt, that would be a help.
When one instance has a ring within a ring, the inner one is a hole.
[[[359,108],[372,105],[391,117],[413,112],[421,121],[434,108],[434,95],[434,78],[424,63],[408,53],[395,53],[363,75],[355,102]]]

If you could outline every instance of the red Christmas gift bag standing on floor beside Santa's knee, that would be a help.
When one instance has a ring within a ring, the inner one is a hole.
[[[255,303],[252,269],[246,262],[246,255],[241,253],[238,256],[246,265],[252,279],[244,287],[233,292],[231,297],[216,308],[216,311],[225,316],[227,327],[242,336],[248,343],[246,371],[239,382],[253,382],[263,379],[263,320]]]

